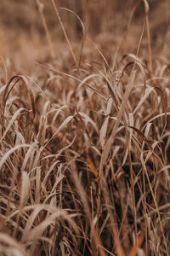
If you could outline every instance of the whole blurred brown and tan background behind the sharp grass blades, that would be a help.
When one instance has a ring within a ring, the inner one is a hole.
[[[65,7],[75,12],[82,19],[88,37],[92,38],[95,44],[100,44],[100,49],[104,49],[104,51],[108,44],[113,46],[120,44],[123,34],[127,32],[130,14],[132,14],[133,8],[138,5],[122,54],[126,53],[126,49],[131,52],[136,49],[144,21],[143,1],[58,0],[55,3],[57,8]],[[164,42],[167,40],[170,0],[149,0],[148,3],[150,4],[151,47],[153,51],[157,52],[164,48]],[[57,52],[59,45],[65,43],[65,38],[51,0],[41,0],[41,4]],[[80,41],[82,39],[82,27],[76,16],[63,9],[59,9],[59,15],[71,43]],[[146,38],[146,32],[144,37]],[[25,60],[27,55],[27,58],[31,60],[41,61],[49,55],[48,42],[36,0],[1,2],[0,38],[0,55],[3,57],[11,54],[14,57],[14,55],[20,54],[20,58],[24,55]],[[14,59],[16,58],[14,57]]]

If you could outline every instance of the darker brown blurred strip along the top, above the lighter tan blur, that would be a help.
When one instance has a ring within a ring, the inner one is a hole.
[[[48,27],[57,31],[58,20],[54,12],[51,0],[41,0],[43,12],[48,22]],[[141,20],[144,15],[144,3],[137,0],[58,0],[56,6],[65,7],[74,11],[80,16],[88,32],[97,34],[99,32],[115,32],[116,25],[119,30],[127,25],[130,11],[139,3],[135,11],[135,21]],[[150,22],[157,29],[166,29],[169,19],[169,0],[149,0]],[[167,14],[167,15],[165,15]],[[71,32],[79,32],[80,27],[75,22],[75,17],[65,11],[60,11],[61,18],[65,25],[71,28]],[[122,19],[123,18],[123,19]],[[20,30],[26,33],[43,33],[42,21],[38,14],[36,0],[7,0],[0,5],[0,25],[8,29],[8,33]],[[164,25],[164,26],[162,26]],[[161,27],[159,27],[161,26]]]

